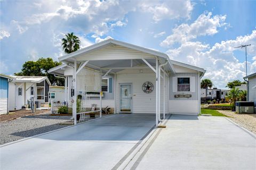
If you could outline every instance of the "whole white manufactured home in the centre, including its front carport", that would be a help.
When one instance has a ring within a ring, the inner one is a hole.
[[[49,73],[66,80],[65,100],[73,105],[73,115],[78,95],[84,100],[82,107],[97,104],[115,113],[156,114],[156,125],[161,114],[200,112],[205,70],[170,60],[164,53],[108,39],[59,61],[64,64]]]

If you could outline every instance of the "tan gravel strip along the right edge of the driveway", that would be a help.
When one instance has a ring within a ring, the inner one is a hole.
[[[235,112],[231,111],[218,112],[230,116],[229,118],[232,121],[256,134],[256,114],[236,114]]]

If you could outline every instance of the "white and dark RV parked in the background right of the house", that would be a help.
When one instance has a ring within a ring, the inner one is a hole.
[[[225,101],[228,95],[229,89],[201,89],[201,103],[205,103],[208,100]]]

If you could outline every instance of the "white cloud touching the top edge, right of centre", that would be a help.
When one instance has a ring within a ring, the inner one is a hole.
[[[190,1],[168,1],[168,2],[142,2],[140,8],[143,12],[153,14],[155,22],[163,19],[190,18],[193,5]]]

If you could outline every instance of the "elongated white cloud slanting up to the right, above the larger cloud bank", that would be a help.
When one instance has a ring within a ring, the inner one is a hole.
[[[168,36],[161,46],[170,47],[174,43],[185,43],[198,36],[211,36],[218,32],[218,28],[226,25],[226,15],[214,15],[212,13],[201,14],[196,21],[190,25],[182,23],[172,29],[172,35]]]

